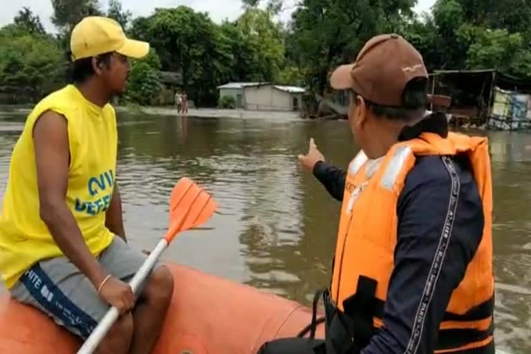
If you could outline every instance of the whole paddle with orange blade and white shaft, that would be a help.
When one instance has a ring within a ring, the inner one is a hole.
[[[140,283],[147,277],[153,265],[173,241],[176,234],[205,223],[214,214],[216,207],[217,203],[214,199],[192,180],[183,177],[178,181],[169,198],[168,230],[129,282],[133,292],[137,292]],[[114,306],[109,308],[93,330],[93,333],[86,339],[80,350],[77,351],[77,354],[93,353],[113,323],[118,319],[118,315],[118,310]]]

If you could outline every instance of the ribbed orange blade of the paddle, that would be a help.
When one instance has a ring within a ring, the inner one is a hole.
[[[205,223],[217,207],[203,188],[187,177],[180,178],[169,198],[169,229],[165,235],[168,243],[178,232]]]

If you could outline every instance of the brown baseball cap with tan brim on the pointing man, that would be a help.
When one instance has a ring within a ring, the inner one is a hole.
[[[393,33],[369,39],[354,64],[335,69],[330,85],[336,90],[351,89],[375,104],[401,106],[402,92],[414,77],[428,78],[422,55]]]

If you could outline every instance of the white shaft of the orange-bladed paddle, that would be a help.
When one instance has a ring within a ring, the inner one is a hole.
[[[166,241],[166,239],[161,239],[157,247],[153,250],[153,252],[151,252],[151,254],[149,254],[149,257],[147,257],[144,263],[142,263],[142,266],[138,272],[136,272],[133,279],[131,279],[129,282],[131,289],[133,289],[133,293],[136,294],[138,287],[146,279],[147,275],[149,272],[151,272],[151,269],[153,269],[153,266],[160,258],[160,255],[167,247],[168,241]],[[94,328],[90,337],[86,339],[83,346],[79,351],[77,351],[77,354],[92,354],[96,350],[97,346],[100,345],[100,342],[105,337],[107,332],[109,332],[109,329],[111,329],[116,319],[118,319],[118,315],[119,313],[117,308],[114,306],[109,308],[100,323],[97,324],[96,328]]]

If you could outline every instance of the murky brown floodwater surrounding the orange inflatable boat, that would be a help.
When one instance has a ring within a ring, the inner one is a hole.
[[[339,202],[297,164],[315,138],[327,160],[357,152],[346,122],[152,117],[120,113],[118,183],[127,237],[151,249],[174,183],[207,187],[219,214],[178,236],[165,259],[309,305],[328,285]],[[0,112],[0,198],[23,115]],[[483,132],[473,132],[480,135]],[[531,135],[486,132],[494,181],[496,342],[531,352]]]

